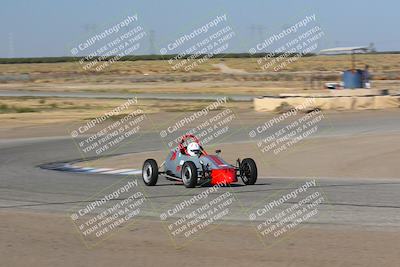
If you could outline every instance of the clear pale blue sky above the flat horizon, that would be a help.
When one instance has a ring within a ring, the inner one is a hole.
[[[72,47],[133,14],[147,32],[153,31],[152,42],[149,34],[142,40],[140,54],[159,53],[220,14],[227,14],[236,33],[229,52],[247,52],[311,14],[325,32],[320,48],[373,42],[378,51],[400,50],[399,10],[395,0],[2,0],[0,57],[69,56]]]

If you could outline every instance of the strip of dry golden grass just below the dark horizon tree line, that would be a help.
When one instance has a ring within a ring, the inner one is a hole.
[[[371,66],[372,71],[400,70],[400,54],[366,54],[357,55],[357,67],[363,68],[365,64]],[[193,69],[193,73],[207,73],[218,71],[213,64],[224,63],[235,69],[244,69],[248,72],[259,72],[260,67],[256,58],[222,58],[210,59],[199,67]],[[289,64],[282,71],[340,71],[350,68],[349,55],[313,56],[303,57]],[[42,64],[0,64],[0,73],[30,73],[30,74],[66,74],[85,73],[78,62],[67,63],[42,63]],[[125,61],[116,62],[106,68],[100,74],[160,74],[183,73],[182,69],[173,70],[166,60]]]

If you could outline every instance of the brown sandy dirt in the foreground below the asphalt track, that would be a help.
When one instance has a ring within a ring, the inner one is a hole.
[[[141,221],[87,248],[70,218],[0,212],[1,266],[399,266],[398,229],[306,226],[263,245],[249,226],[221,225],[175,248],[160,222]]]

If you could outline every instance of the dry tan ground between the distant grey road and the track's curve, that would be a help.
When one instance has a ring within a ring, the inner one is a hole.
[[[45,100],[43,102],[43,100]],[[0,105],[8,107],[32,108],[35,112],[7,112],[0,110],[0,138],[29,138],[42,136],[67,136],[75,129],[93,118],[101,117],[114,108],[124,104],[122,99],[74,99],[74,98],[0,98]],[[138,100],[138,103],[121,114],[140,109],[151,120],[171,120],[182,111],[194,112],[203,109],[212,101],[162,101]],[[52,106],[53,105],[53,106]],[[54,107],[55,105],[55,107]],[[265,113],[253,111],[251,102],[229,102],[224,106],[234,108],[235,112],[246,112],[264,116]],[[112,123],[115,120],[110,120]]]

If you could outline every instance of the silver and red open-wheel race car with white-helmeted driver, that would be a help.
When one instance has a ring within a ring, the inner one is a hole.
[[[158,176],[167,180],[182,182],[193,188],[203,184],[232,184],[240,177],[244,184],[253,185],[257,181],[257,165],[251,158],[237,159],[232,165],[224,161],[216,150],[216,155],[209,155],[194,135],[181,137],[178,147],[171,150],[160,168],[154,159],[147,159],[143,164],[142,178],[146,185],[157,184]],[[160,170],[164,166],[163,170]]]

